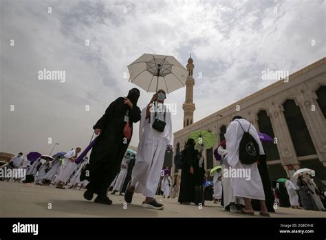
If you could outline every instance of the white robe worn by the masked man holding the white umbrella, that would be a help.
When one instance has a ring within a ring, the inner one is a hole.
[[[154,112],[151,112],[151,122],[146,117],[146,108],[142,110],[140,120],[140,142],[138,144],[137,160],[133,167],[131,185],[138,186],[136,190],[145,197],[154,197],[160,181],[166,146],[171,144],[172,121],[171,112],[166,111],[166,126],[163,132],[153,129]],[[157,114],[160,116],[160,114]]]

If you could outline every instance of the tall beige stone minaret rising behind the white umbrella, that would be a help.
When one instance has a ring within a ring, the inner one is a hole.
[[[182,105],[184,109],[184,128],[193,124],[193,111],[195,111],[195,103],[193,103],[193,86],[195,85],[195,80],[193,79],[193,59],[191,55],[188,59],[187,64],[188,77],[186,80],[186,101]]]

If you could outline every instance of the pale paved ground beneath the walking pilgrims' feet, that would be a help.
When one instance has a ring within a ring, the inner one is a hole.
[[[111,206],[83,199],[83,190],[61,190],[32,183],[0,181],[0,217],[243,217],[223,210],[219,204],[206,201],[205,206],[182,206],[177,199],[156,197],[164,210],[144,209],[141,194],[124,205],[123,196],[109,195]],[[49,204],[51,203],[51,204]],[[52,209],[48,206],[52,205]],[[326,212],[279,208],[272,217],[326,217]],[[258,215],[258,212],[255,212]],[[246,216],[247,217],[247,216]],[[258,217],[258,216],[256,216]]]

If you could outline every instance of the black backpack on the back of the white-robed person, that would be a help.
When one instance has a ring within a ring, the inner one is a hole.
[[[241,126],[241,123],[239,121],[237,122]],[[259,146],[257,141],[254,140],[254,138],[249,133],[250,127],[251,123],[248,128],[248,131],[246,132],[241,126],[243,130],[243,135],[239,146],[239,160],[242,164],[246,165],[255,163],[259,159]]]

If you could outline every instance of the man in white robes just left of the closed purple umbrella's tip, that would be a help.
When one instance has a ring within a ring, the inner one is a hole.
[[[75,168],[76,168],[76,159],[77,159],[77,155],[80,152],[80,148],[76,148],[73,150],[70,150],[69,152],[67,152],[64,157],[65,157],[65,163],[62,166],[58,177],[56,178],[57,184],[56,184],[56,188],[61,188],[61,189],[65,189],[63,186],[65,186],[65,183],[67,183],[70,175],[72,174],[72,172],[74,172]]]

